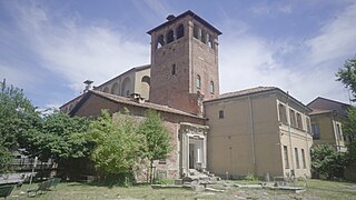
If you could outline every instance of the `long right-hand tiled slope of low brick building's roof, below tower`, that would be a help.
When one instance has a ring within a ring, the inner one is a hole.
[[[174,109],[174,108],[170,108],[167,106],[156,104],[156,103],[151,103],[151,102],[136,102],[136,101],[132,101],[130,98],[120,97],[120,96],[116,96],[116,94],[111,94],[111,93],[106,93],[106,92],[101,92],[101,91],[97,91],[97,90],[89,90],[88,92],[95,93],[96,96],[109,99],[109,100],[118,102],[118,103],[123,103],[123,104],[129,104],[129,106],[135,106],[135,107],[142,107],[142,108],[154,109],[154,110],[158,110],[158,111],[170,112],[170,113],[187,116],[187,117],[191,117],[191,118],[204,119],[201,117],[198,117],[198,116],[195,116],[195,114],[191,114],[188,112],[184,112],[181,110],[177,110],[177,109]]]

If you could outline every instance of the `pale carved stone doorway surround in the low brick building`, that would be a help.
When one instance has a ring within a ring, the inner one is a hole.
[[[188,122],[179,123],[180,177],[189,174],[189,167],[199,171],[206,171],[208,130],[208,126]]]

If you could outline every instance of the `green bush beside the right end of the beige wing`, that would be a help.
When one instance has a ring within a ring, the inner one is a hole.
[[[343,178],[346,164],[344,152],[338,152],[330,144],[317,144],[312,148],[312,170],[315,177],[327,179]]]

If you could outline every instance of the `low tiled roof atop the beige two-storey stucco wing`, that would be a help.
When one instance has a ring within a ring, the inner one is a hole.
[[[210,99],[204,102],[214,102],[214,101],[220,101],[220,100],[230,99],[230,98],[239,98],[239,97],[251,96],[251,94],[264,93],[264,92],[271,92],[271,91],[278,91],[284,96],[288,97],[290,100],[293,100],[293,102],[305,108],[307,111],[312,111],[312,109],[309,109],[307,106],[305,106],[304,103],[301,103],[300,101],[298,101],[297,99],[289,96],[287,92],[283,91],[277,87],[256,87],[256,88],[249,88],[249,89],[239,90],[235,92],[222,93],[218,98]]]

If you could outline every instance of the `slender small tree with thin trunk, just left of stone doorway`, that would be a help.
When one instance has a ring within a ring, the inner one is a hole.
[[[140,134],[145,136],[145,157],[150,161],[150,182],[152,182],[154,161],[166,159],[171,147],[168,130],[162,123],[159,113],[155,110],[147,110],[146,118],[139,126]]]

